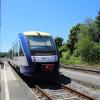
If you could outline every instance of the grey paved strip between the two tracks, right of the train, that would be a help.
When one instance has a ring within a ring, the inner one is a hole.
[[[88,74],[88,73],[68,70],[65,68],[61,68],[60,71],[66,77],[90,83],[92,85],[100,87],[100,75]]]

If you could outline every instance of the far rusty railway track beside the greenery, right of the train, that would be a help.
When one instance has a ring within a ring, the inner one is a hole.
[[[62,68],[66,68],[66,69],[72,69],[72,70],[79,70],[79,71],[84,71],[84,72],[88,72],[88,73],[95,73],[95,74],[100,74],[100,70],[93,70],[93,69],[85,69],[85,68],[79,68],[79,67],[68,67],[66,65],[61,65]]]

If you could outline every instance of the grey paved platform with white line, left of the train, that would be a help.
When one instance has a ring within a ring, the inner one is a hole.
[[[3,69],[0,66],[0,76],[1,100],[37,100],[22,80],[15,76],[7,62]]]

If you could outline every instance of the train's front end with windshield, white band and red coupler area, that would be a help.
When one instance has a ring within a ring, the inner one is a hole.
[[[59,75],[59,53],[52,36],[44,32],[24,33],[31,54],[33,76],[53,79]]]

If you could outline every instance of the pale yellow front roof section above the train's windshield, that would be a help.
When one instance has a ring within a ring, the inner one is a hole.
[[[39,31],[24,32],[23,34],[26,36],[51,36],[49,33]]]

